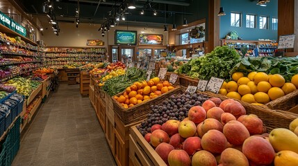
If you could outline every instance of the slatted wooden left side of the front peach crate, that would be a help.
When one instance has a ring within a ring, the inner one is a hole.
[[[129,156],[133,165],[167,166],[136,127],[131,127],[131,134],[129,136]]]

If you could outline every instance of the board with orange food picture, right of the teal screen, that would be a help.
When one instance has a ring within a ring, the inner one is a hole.
[[[163,45],[163,35],[140,34],[139,45]]]

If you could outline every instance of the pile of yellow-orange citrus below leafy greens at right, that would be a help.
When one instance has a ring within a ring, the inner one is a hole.
[[[285,82],[280,74],[253,71],[245,76],[235,72],[233,81],[224,82],[219,93],[251,104],[266,104],[298,89],[298,75],[291,78],[291,82]]]

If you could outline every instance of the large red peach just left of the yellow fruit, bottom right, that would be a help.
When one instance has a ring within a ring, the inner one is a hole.
[[[275,157],[275,152],[266,139],[259,136],[250,136],[242,146],[242,152],[256,165],[270,165]]]

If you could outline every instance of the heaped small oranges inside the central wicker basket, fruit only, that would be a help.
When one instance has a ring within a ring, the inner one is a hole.
[[[125,92],[122,95],[115,95],[113,98],[122,104],[122,107],[128,109],[129,107],[156,98],[158,95],[167,93],[172,89],[174,89],[172,84],[169,84],[167,81],[161,82],[159,77],[154,77],[148,82],[134,82],[131,86],[125,89]]]

